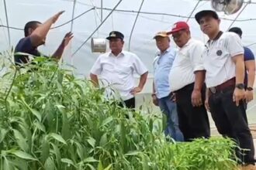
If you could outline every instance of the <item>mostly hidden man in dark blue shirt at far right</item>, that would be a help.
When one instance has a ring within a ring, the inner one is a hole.
[[[233,27],[229,29],[229,32],[237,33],[240,38],[242,38],[242,30],[239,27]],[[254,78],[255,78],[255,59],[254,53],[252,53],[251,49],[244,46],[244,63],[246,73],[244,76],[244,87],[245,87],[245,94],[246,94],[246,102],[254,99]]]

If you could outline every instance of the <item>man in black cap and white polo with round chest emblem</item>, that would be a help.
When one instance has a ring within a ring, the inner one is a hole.
[[[208,37],[202,54],[206,69],[206,107],[216,128],[233,138],[242,149],[237,151],[245,169],[254,169],[254,143],[244,108],[244,48],[234,32],[221,32],[216,12],[205,10],[195,15],[200,29]],[[244,155],[241,155],[240,153]]]

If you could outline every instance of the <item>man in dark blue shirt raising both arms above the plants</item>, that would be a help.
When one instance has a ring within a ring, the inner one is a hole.
[[[25,37],[20,39],[15,48],[14,60],[16,65],[22,63],[29,63],[29,56],[43,56],[38,50],[37,47],[45,43],[47,33],[50,30],[50,27],[57,21],[59,16],[63,12],[58,12],[56,15],[52,16],[43,24],[38,21],[27,22],[24,28]],[[68,42],[73,38],[71,32],[67,32],[66,36],[61,42],[61,45],[57,48],[56,52],[53,54],[53,57],[60,59],[64,48],[67,46]]]

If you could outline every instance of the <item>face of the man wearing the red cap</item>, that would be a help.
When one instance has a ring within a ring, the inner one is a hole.
[[[184,46],[190,39],[189,30],[183,29],[172,33],[172,38],[178,47]]]

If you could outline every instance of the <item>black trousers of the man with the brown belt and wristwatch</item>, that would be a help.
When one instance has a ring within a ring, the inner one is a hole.
[[[209,96],[209,107],[216,128],[224,137],[233,138],[240,148],[250,151],[237,151],[237,157],[246,164],[254,164],[254,142],[248,128],[244,101],[237,107],[233,101],[234,87],[227,87]],[[245,155],[243,155],[245,154]],[[241,163],[240,162],[240,163]]]

